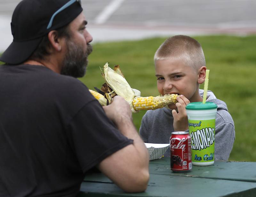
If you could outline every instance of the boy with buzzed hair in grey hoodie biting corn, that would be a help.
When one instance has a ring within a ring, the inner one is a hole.
[[[161,95],[178,94],[176,104],[148,110],[142,118],[140,135],[147,143],[170,143],[174,131],[188,131],[186,105],[202,102],[205,59],[201,45],[193,38],[176,35],[157,49],[155,57],[157,89]],[[215,124],[215,160],[228,160],[235,140],[235,128],[225,102],[208,91],[207,102],[218,105]],[[169,109],[168,109],[169,108]],[[170,148],[164,156],[170,157]]]

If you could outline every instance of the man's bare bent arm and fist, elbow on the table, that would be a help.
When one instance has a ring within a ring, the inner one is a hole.
[[[104,110],[119,131],[133,140],[133,144],[108,156],[98,168],[124,191],[143,192],[149,180],[148,149],[133,125],[131,108],[122,97],[115,96]]]

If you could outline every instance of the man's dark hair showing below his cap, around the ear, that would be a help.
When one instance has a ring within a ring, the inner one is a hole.
[[[69,31],[69,26],[66,25],[64,27],[60,27],[56,29],[58,37],[66,37],[69,39],[71,37],[71,33]],[[48,39],[48,34],[44,35],[42,41],[36,48],[36,50],[32,53],[32,55],[28,58],[29,60],[45,60],[45,57],[50,55],[49,49],[51,47],[51,42]]]

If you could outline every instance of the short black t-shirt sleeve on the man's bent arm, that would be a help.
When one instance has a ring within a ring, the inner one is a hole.
[[[68,125],[68,131],[83,172],[133,143],[118,131],[97,100],[88,102],[77,112]]]

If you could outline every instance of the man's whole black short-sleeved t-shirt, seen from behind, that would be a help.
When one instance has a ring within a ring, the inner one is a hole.
[[[76,196],[84,172],[131,143],[79,80],[0,66],[0,196]]]

